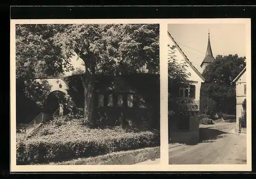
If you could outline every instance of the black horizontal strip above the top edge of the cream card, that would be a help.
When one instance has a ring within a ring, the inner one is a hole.
[[[250,18],[249,6],[23,6],[11,7],[11,19]]]

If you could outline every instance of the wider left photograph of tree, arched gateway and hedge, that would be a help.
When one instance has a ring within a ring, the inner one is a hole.
[[[160,164],[159,66],[159,24],[15,24],[16,165]]]

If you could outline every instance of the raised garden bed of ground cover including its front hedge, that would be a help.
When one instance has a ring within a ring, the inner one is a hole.
[[[119,126],[89,129],[80,119],[53,120],[17,145],[17,165],[28,165],[159,146],[160,136],[159,132],[126,130]]]

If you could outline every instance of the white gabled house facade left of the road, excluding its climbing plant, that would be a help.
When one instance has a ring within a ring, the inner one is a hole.
[[[185,118],[177,117],[177,119],[169,119],[169,139],[171,142],[195,143],[199,141],[199,119],[198,112],[200,109],[200,89],[205,79],[196,67],[188,60],[182,49],[174,40],[172,35],[168,33],[168,61],[176,60],[182,64],[185,72],[188,74],[187,82],[189,85],[179,89],[179,96],[193,98],[198,106],[195,111],[190,111]],[[172,123],[170,124],[170,121]],[[180,123],[183,123],[180,125]],[[184,125],[184,123],[187,123]]]

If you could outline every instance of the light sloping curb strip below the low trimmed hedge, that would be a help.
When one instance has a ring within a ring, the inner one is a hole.
[[[160,158],[160,147],[119,151],[104,156],[79,158],[49,165],[133,165],[150,159]]]

